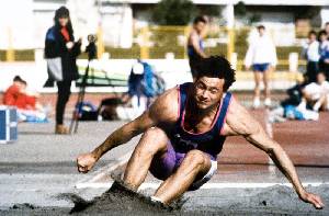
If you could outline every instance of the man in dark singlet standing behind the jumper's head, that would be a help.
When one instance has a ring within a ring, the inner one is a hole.
[[[196,16],[193,21],[192,32],[188,38],[189,64],[193,79],[196,77],[195,66],[200,59],[206,57],[202,39],[206,24],[207,20],[205,16]]]

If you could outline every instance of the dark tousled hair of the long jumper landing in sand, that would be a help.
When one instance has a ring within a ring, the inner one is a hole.
[[[223,56],[211,56],[201,59],[195,66],[197,72],[196,79],[201,77],[213,77],[224,79],[224,91],[236,81],[236,70],[231,68],[230,62]]]

